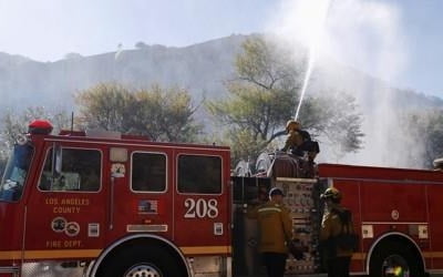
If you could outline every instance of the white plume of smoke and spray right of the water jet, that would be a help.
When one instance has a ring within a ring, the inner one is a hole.
[[[414,166],[411,156],[419,155],[421,148],[413,146],[416,138],[404,134],[399,125],[400,111],[392,102],[391,88],[398,84],[408,61],[401,21],[401,9],[393,1],[281,2],[268,31],[291,43],[296,51],[300,44],[315,51],[316,80],[308,83],[307,94],[331,88],[333,93],[352,93],[363,114],[363,150],[337,161],[323,146],[319,161]]]

